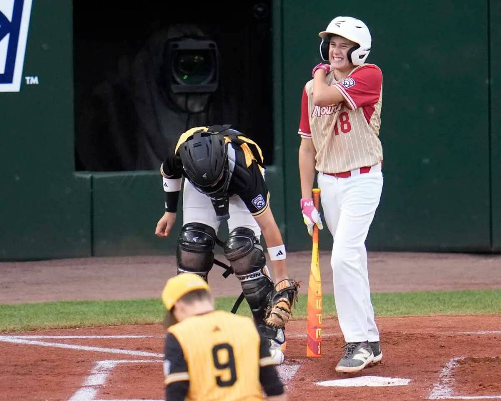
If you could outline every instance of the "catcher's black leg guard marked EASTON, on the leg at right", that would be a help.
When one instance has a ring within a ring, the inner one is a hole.
[[[273,294],[273,282],[266,267],[263,248],[257,243],[254,231],[244,227],[234,229],[224,244],[224,256],[240,280],[256,324],[264,323]]]

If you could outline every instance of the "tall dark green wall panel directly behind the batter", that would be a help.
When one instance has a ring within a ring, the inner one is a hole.
[[[383,71],[385,183],[369,249],[489,251],[487,2],[321,0],[282,11],[289,248],[308,241],[297,206],[301,91],[320,61],[318,32],[349,15],[369,26],[368,61]],[[330,247],[325,232],[321,245]]]

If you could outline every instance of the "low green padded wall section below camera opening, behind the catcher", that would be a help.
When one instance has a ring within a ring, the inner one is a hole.
[[[272,188],[281,185],[275,170],[273,166],[267,169],[267,182]],[[177,236],[182,227],[182,196],[171,236],[157,238],[156,223],[165,212],[165,195],[159,172],[94,173],[92,193],[94,256],[175,253]],[[272,193],[270,200],[279,220],[283,199]],[[225,239],[227,232],[227,227],[221,224],[219,237]]]

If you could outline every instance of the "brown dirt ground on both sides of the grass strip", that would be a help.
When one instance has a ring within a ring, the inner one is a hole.
[[[307,283],[309,259],[308,252],[290,254],[291,277]],[[158,297],[165,279],[175,274],[174,261],[124,257],[4,262],[0,303]],[[321,254],[320,263],[324,293],[330,293],[328,253]],[[369,253],[372,292],[501,288],[499,266],[500,255]],[[223,280],[217,268],[209,282],[216,296],[240,292],[236,280]],[[334,370],[343,345],[335,319],[325,320],[323,357],[315,359],[305,357],[306,322],[290,322],[287,358],[280,367],[289,399],[501,399],[501,316],[377,322],[383,362],[353,375]],[[160,325],[0,335],[0,401],[161,400],[162,346]],[[322,381],[327,383],[320,385]]]

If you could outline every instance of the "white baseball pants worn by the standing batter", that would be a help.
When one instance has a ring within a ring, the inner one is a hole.
[[[319,173],[325,222],[334,237],[331,267],[339,325],[346,342],[379,341],[370,298],[365,239],[383,187],[380,164],[347,178]],[[373,171],[376,170],[376,171]]]

